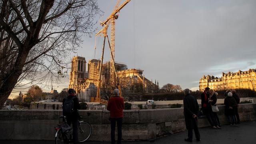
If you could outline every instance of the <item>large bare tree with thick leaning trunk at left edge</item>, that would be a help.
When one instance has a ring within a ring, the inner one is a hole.
[[[0,109],[14,88],[65,76],[99,13],[96,0],[1,0]]]

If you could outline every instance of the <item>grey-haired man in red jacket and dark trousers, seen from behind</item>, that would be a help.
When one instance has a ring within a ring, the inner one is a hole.
[[[114,96],[108,100],[107,110],[110,111],[111,123],[111,144],[115,144],[115,128],[117,124],[117,144],[122,140],[122,121],[123,121],[124,99],[119,96],[119,90],[114,89]]]

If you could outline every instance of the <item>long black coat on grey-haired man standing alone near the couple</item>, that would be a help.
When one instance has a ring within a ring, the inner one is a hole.
[[[193,118],[193,114],[198,115],[199,105],[196,98],[190,94],[183,99],[184,117],[186,121],[186,128],[193,129],[197,126],[197,118]]]

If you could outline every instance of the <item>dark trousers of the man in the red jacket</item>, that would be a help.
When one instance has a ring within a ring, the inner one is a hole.
[[[111,144],[115,144],[115,130],[117,124],[117,144],[121,144],[122,140],[122,121],[123,118],[109,118],[111,123]]]

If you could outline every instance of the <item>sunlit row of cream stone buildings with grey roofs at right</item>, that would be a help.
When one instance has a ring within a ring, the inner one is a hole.
[[[213,90],[227,90],[245,88],[256,90],[256,69],[238,72],[222,72],[222,77],[203,76],[199,80],[199,90],[209,87]]]

